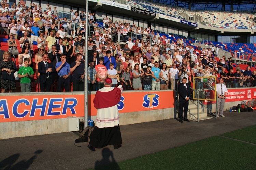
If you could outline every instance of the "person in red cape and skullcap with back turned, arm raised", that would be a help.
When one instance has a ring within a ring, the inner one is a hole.
[[[96,126],[90,135],[88,148],[103,148],[114,145],[114,149],[122,146],[122,137],[119,126],[119,112],[117,104],[122,95],[122,84],[119,75],[116,75],[117,87],[112,86],[112,80],[106,78],[104,87],[99,89],[93,99],[94,107],[97,109]]]

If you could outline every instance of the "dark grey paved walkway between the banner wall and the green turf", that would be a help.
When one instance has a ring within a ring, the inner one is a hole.
[[[256,124],[254,112],[224,112],[225,118],[180,123],[176,119],[120,126],[123,145],[92,152],[73,144],[77,133],[0,140],[0,169],[88,169],[135,158]],[[112,157],[112,158],[109,158]]]

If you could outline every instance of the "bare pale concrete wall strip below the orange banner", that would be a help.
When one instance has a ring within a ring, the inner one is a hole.
[[[174,108],[120,114],[120,125],[173,118]],[[84,117],[80,117],[82,120]],[[96,120],[96,116],[88,119]],[[0,139],[68,132],[67,118],[0,123]]]

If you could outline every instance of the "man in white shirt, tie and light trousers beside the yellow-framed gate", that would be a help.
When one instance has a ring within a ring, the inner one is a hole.
[[[220,78],[219,79],[219,83],[216,85],[216,89],[217,89],[217,95],[218,95],[218,115],[217,117],[221,116],[221,117],[225,117],[223,115],[223,110],[224,110],[224,104],[225,104],[225,96],[227,95],[227,87],[223,84],[224,82],[224,78]]]

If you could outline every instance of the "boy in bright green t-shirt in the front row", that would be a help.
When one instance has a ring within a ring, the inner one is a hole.
[[[21,67],[18,71],[18,77],[20,78],[20,87],[22,93],[29,93],[31,91],[31,78],[34,77],[34,71],[29,67],[29,58],[24,58],[24,67]]]

